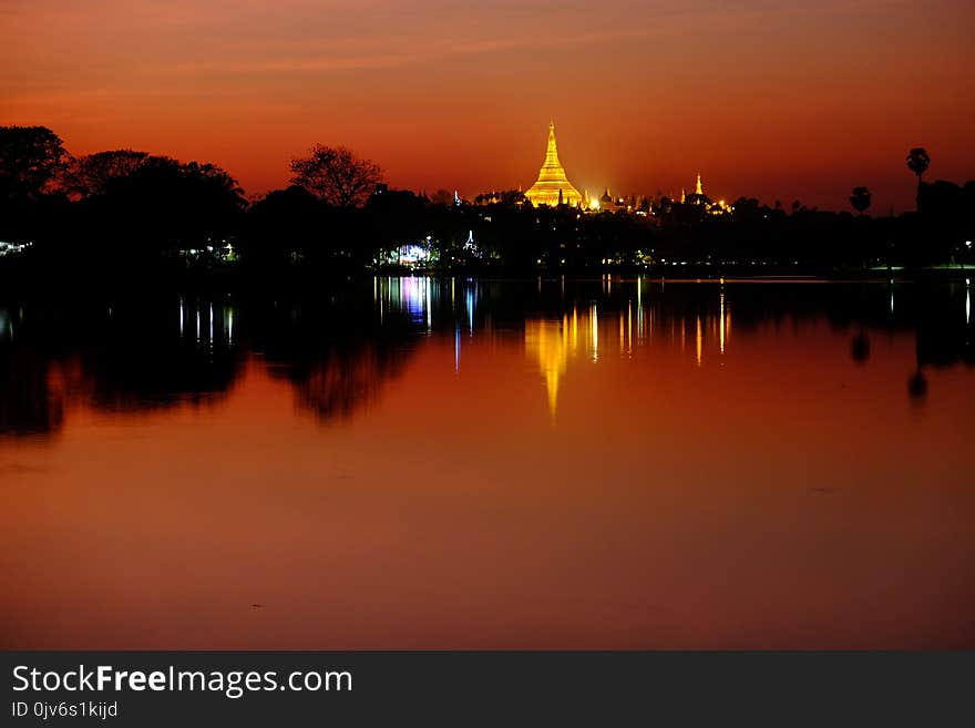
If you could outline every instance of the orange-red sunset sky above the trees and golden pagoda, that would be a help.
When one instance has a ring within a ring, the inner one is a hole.
[[[392,186],[527,188],[556,123],[591,194],[800,199],[873,213],[975,178],[975,3],[0,0],[0,124],[73,154],[218,164],[248,195],[316,143]]]

